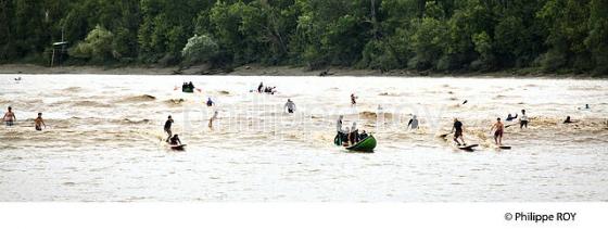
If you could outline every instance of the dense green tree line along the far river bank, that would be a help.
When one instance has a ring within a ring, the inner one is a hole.
[[[608,73],[608,0],[0,0],[0,62]]]

